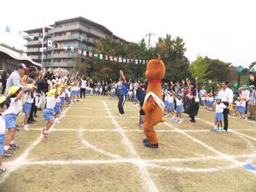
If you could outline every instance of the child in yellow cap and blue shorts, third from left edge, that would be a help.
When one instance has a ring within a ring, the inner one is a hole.
[[[24,131],[29,131],[28,119],[31,112],[31,106],[34,102],[34,85],[27,84],[27,87],[30,89],[25,93],[25,103],[23,104],[23,113],[25,114],[23,122]]]

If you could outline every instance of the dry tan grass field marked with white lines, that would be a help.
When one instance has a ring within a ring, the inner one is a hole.
[[[256,191],[256,123],[230,117],[230,130],[210,131],[214,113],[197,123],[166,119],[157,150],[143,147],[138,106],[89,96],[65,111],[48,140],[45,121],[17,132],[20,149],[4,158],[0,191]],[[39,116],[42,117],[41,112]],[[19,122],[21,122],[21,117]]]

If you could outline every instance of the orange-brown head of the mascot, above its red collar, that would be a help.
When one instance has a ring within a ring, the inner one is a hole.
[[[145,77],[148,82],[161,82],[165,77],[165,64],[161,61],[160,55],[157,59],[148,61]]]

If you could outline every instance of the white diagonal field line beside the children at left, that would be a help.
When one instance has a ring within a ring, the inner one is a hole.
[[[67,112],[67,110],[69,110],[69,108],[67,108],[64,111],[64,114]],[[59,119],[61,119],[61,118],[62,117],[60,117]],[[53,126],[50,127],[50,129],[52,129],[54,127],[54,125],[55,125],[55,123],[53,124]],[[42,131],[42,129],[41,129],[41,131]],[[4,173],[3,177],[1,177],[0,184],[3,183],[4,180],[7,179],[7,177],[10,176],[11,172],[14,172],[15,170],[19,169],[21,166],[23,166],[24,164],[26,164],[28,162],[27,157],[29,155],[29,152],[31,150],[33,150],[34,147],[36,147],[41,140],[42,140],[42,134],[40,134],[39,137],[37,137],[37,139],[35,139],[34,142],[32,142],[31,145],[29,145],[29,147],[27,147],[26,150],[21,155],[18,156],[18,158],[16,158],[13,161],[4,163],[4,166],[7,168],[7,172]]]

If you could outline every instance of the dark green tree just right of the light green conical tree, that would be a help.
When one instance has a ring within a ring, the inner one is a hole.
[[[227,75],[230,73],[230,65],[229,63],[225,63],[220,61],[219,59],[211,59],[206,56],[205,58],[206,64],[208,64],[208,79],[222,82],[227,79]]]

